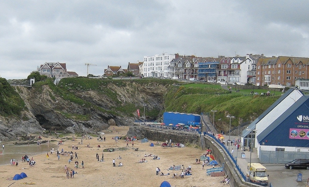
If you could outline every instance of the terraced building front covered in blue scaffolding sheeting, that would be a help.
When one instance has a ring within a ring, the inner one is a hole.
[[[199,80],[212,81],[216,80],[217,70],[220,62],[201,62],[198,63]]]

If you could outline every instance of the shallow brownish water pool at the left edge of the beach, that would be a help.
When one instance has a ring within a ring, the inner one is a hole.
[[[13,145],[13,144],[4,144],[5,148],[2,148],[2,144],[0,145],[0,165],[7,165],[10,164],[11,159],[18,160],[19,163],[22,162],[22,157],[25,155],[28,155],[28,157],[31,159],[31,157],[46,153],[50,154],[50,149],[55,148],[55,151],[57,151],[58,146],[55,144],[31,144],[31,145]]]

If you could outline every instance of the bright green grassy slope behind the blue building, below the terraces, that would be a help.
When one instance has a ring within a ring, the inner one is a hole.
[[[220,93],[220,94],[219,94]],[[223,94],[222,94],[223,93]],[[243,95],[236,92],[226,93],[220,86],[209,85],[169,87],[165,96],[166,111],[184,113],[206,113],[217,110],[215,114],[217,128],[226,130],[229,119],[226,115],[235,116],[231,126],[254,120],[272,105],[280,95],[275,96],[252,96]],[[210,112],[212,119],[213,113]]]

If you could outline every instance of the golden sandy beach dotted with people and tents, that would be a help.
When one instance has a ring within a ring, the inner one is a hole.
[[[115,130],[104,131],[106,141],[99,142],[97,137],[93,139],[83,139],[83,145],[79,145],[81,141],[80,137],[76,138],[76,141],[67,140],[64,145],[60,145],[64,151],[76,151],[78,153],[78,159],[73,159],[72,163],[68,163],[69,157],[60,156],[60,160],[56,154],[50,155],[49,159],[46,158],[46,154],[40,154],[34,156],[36,161],[34,167],[30,167],[27,162],[21,162],[19,160],[19,166],[4,165],[0,166],[0,180],[1,186],[7,187],[15,182],[10,187],[25,186],[24,182],[35,182],[32,186],[44,186],[44,187],[57,187],[57,186],[126,186],[126,187],[159,187],[161,182],[168,181],[171,186],[183,186],[183,187],[200,187],[200,186],[227,186],[220,183],[224,177],[210,177],[206,176],[206,169],[210,166],[205,166],[202,170],[201,164],[195,164],[195,158],[199,158],[205,151],[197,148],[184,147],[184,148],[163,148],[161,146],[150,147],[149,143],[140,143],[134,141],[134,148],[145,151],[134,151],[132,144],[129,144],[129,148],[124,151],[115,152],[103,152],[105,148],[125,148],[126,142],[119,140],[116,142],[112,140],[114,136],[125,136],[129,127],[111,127]],[[119,131],[119,134],[116,131]],[[71,137],[71,136],[68,136]],[[56,139],[56,138],[53,138]],[[46,138],[45,138],[46,140]],[[58,139],[60,140],[60,139]],[[150,140],[150,142],[153,142]],[[156,142],[154,142],[156,143]],[[162,143],[162,142],[161,142]],[[57,144],[57,142],[56,142]],[[78,146],[78,150],[72,150],[72,144]],[[90,144],[91,148],[87,147]],[[101,148],[98,148],[100,145]],[[99,154],[101,159],[102,153],[104,153],[104,162],[97,161],[96,153]],[[159,160],[153,160],[152,157],[144,157],[146,154],[158,155]],[[74,154],[73,154],[74,155]],[[31,155],[30,155],[31,156]],[[117,159],[121,156],[121,159]],[[75,156],[74,156],[75,158]],[[137,163],[142,158],[146,158],[147,162]],[[113,167],[112,160],[115,159],[116,167]],[[74,169],[74,162],[79,162],[79,168]],[[84,161],[84,169],[82,169],[81,163]],[[122,167],[118,167],[119,162],[123,163]],[[67,179],[64,167],[68,166],[69,169],[74,169],[77,174],[74,175],[74,179]],[[184,176],[184,178],[177,177],[172,178],[174,173],[180,176],[181,170],[168,171],[167,169],[172,165],[188,165],[192,166],[192,175]],[[164,174],[170,173],[167,176],[156,175],[156,168],[159,167]],[[23,169],[25,168],[25,169]],[[24,172],[28,177],[12,181],[7,180],[13,177],[17,173]],[[229,185],[228,185],[229,186]]]

